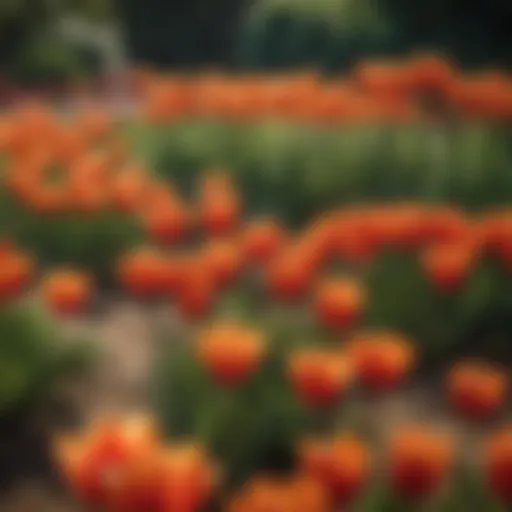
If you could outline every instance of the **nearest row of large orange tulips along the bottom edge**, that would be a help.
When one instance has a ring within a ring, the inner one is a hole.
[[[510,427],[491,435],[480,468],[459,469],[455,482],[449,478],[456,471],[454,440],[435,429],[404,427],[387,443],[381,468],[385,485],[376,490],[368,489],[373,453],[359,436],[307,440],[296,446],[296,471],[254,475],[234,496],[222,495],[218,508],[204,509],[327,512],[355,502],[359,506],[343,510],[508,510],[511,444]],[[202,510],[223,478],[199,441],[169,443],[144,416],[99,421],[61,436],[55,455],[76,495],[105,510]]]

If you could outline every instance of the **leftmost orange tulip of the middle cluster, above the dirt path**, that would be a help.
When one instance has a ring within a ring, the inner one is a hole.
[[[165,291],[166,274],[165,258],[148,247],[128,252],[117,265],[118,279],[123,288],[142,298],[155,297]]]

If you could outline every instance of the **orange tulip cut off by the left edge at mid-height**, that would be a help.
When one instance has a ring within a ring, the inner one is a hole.
[[[22,251],[4,246],[0,252],[0,303],[17,298],[32,276],[34,263]]]

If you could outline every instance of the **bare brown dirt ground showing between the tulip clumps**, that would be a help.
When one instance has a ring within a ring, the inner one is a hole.
[[[100,361],[78,386],[68,390],[83,420],[97,413],[144,408],[154,331],[179,328],[165,306],[141,306],[128,300],[104,299],[98,312],[63,323],[71,334],[83,333],[99,341]],[[399,424],[422,422],[443,426],[464,446],[474,446],[488,427],[473,427],[454,419],[437,385],[411,385],[399,393],[375,400],[361,397],[351,410],[357,423],[368,425],[379,437]],[[0,512],[80,512],[58,485],[31,477],[0,496]]]

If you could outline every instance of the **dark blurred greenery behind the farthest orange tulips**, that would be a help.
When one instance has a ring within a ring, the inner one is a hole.
[[[507,0],[4,0],[3,97],[135,65],[338,72],[436,49],[467,68],[508,67],[511,21]]]

